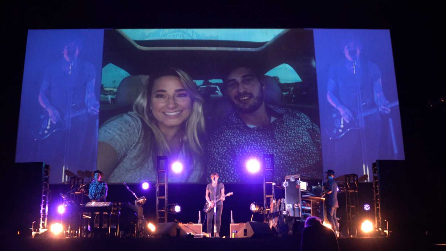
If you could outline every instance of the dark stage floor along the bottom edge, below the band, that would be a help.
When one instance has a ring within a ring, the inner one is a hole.
[[[98,251],[98,250],[292,250],[298,251],[300,239],[288,238],[4,238],[4,250],[29,251]],[[427,239],[417,238],[347,238],[339,239],[342,251],[378,251],[378,250],[444,250],[446,246],[429,243]]]

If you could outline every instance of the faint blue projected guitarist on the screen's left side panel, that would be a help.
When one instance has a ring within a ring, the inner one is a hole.
[[[80,40],[64,43],[62,58],[46,67],[38,96],[45,111],[34,140],[40,143],[42,159],[53,166],[52,174],[62,181],[62,170],[79,168],[85,158],[81,150],[91,145],[84,141],[94,138],[86,135],[93,132],[91,121],[94,124],[99,113],[95,68],[78,58],[81,49]]]

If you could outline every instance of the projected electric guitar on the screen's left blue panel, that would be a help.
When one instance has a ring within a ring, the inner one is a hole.
[[[54,132],[67,130],[70,119],[86,113],[87,109],[82,109],[73,112],[70,115],[61,116],[62,119],[60,119],[58,123],[53,124],[48,112],[42,111],[42,114],[40,115],[39,127],[36,128],[36,131],[34,131],[34,140],[45,140]]]

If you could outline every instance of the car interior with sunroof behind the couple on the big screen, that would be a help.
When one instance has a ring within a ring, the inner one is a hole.
[[[198,86],[205,100],[206,131],[212,132],[232,109],[223,79],[235,61],[255,66],[262,74],[265,103],[299,110],[318,124],[313,33],[248,29],[240,36],[240,31],[232,31],[203,39],[211,36],[194,30],[105,30],[99,127],[115,115],[132,111],[150,72],[173,66],[188,73]]]

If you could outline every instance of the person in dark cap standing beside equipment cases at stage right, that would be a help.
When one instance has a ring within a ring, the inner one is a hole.
[[[327,174],[325,183],[324,193],[325,193],[325,205],[327,209],[327,220],[331,225],[331,229],[333,229],[336,235],[339,235],[338,231],[338,220],[336,219],[336,210],[339,207],[338,204],[338,184],[336,183],[335,171],[329,169],[325,172]]]

